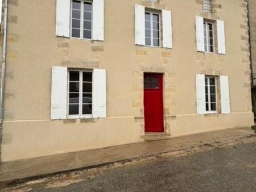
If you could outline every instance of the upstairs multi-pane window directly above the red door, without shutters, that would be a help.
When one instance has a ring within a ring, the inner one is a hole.
[[[145,12],[145,43],[147,46],[160,46],[159,14]]]

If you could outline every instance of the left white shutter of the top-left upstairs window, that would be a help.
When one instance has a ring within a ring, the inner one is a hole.
[[[56,1],[56,36],[69,37],[70,0]]]

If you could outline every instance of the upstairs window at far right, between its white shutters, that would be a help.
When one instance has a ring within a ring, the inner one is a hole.
[[[204,22],[204,51],[214,52],[213,23]]]

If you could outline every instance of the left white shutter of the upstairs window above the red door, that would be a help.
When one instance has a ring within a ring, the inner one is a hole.
[[[135,44],[145,45],[145,7],[135,5]]]

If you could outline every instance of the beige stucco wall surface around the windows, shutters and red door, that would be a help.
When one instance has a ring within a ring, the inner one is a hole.
[[[100,42],[56,37],[55,0],[10,1],[1,160],[143,141],[143,72],[164,73],[171,136],[251,126],[246,5],[213,3],[214,14],[205,14],[200,0],[105,0]],[[135,4],[172,11],[172,49],[134,44]],[[196,52],[196,15],[225,21],[226,55]],[[50,120],[53,65],[106,69],[108,117]],[[231,114],[196,115],[196,73],[229,76]]]

